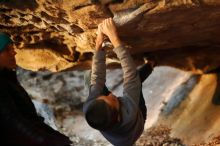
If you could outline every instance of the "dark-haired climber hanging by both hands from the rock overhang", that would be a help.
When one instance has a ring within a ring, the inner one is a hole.
[[[106,35],[114,46],[123,70],[123,97],[112,94],[105,86],[106,51],[102,48]],[[136,70],[135,64],[125,45],[118,37],[111,18],[98,26],[96,47],[91,74],[85,75],[89,97],[83,112],[87,123],[99,130],[115,146],[132,146],[143,132],[146,120],[146,106],[142,94],[142,82],[151,74],[153,63]]]

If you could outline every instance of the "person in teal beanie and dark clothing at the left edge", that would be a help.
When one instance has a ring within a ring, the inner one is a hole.
[[[12,40],[0,33],[0,129],[2,146],[69,146],[71,141],[37,115],[16,77]]]

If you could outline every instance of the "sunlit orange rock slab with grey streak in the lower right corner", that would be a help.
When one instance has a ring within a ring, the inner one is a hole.
[[[207,144],[219,137],[219,79],[220,74],[207,74],[188,80],[163,106],[157,124],[171,127],[171,136],[180,138],[187,145]],[[175,103],[172,108],[171,103]]]

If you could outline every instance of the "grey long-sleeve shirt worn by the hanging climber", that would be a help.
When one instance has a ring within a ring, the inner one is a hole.
[[[102,135],[115,146],[131,146],[139,138],[144,129],[145,120],[139,109],[141,81],[133,59],[124,46],[113,50],[123,70],[123,97],[118,97],[121,108],[121,123],[108,131],[100,131]],[[101,95],[106,81],[105,51],[96,51],[93,57],[91,89],[87,102]]]

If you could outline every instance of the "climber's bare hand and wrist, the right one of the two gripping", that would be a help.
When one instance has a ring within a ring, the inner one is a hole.
[[[108,36],[108,38],[110,39],[111,43],[113,44],[113,46],[115,48],[122,45],[122,42],[118,37],[118,33],[117,33],[115,23],[114,23],[112,18],[105,19],[101,23],[101,31],[102,31],[103,34]]]

